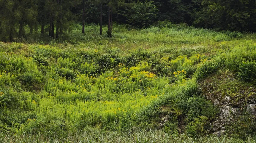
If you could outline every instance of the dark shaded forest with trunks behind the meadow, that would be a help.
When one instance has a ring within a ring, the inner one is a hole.
[[[13,41],[37,31],[59,38],[72,29],[72,23],[107,24],[107,35],[111,37],[113,22],[147,28],[159,21],[216,31],[255,32],[256,1],[0,0],[1,41]],[[101,27],[99,34],[102,34]],[[84,26],[81,32],[84,33]]]

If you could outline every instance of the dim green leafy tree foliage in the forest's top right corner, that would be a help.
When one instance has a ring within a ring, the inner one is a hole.
[[[203,0],[194,24],[216,30],[255,31],[255,1]]]

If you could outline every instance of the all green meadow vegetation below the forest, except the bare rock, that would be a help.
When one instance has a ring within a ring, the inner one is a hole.
[[[256,34],[167,21],[114,23],[112,38],[81,29],[0,42],[0,142],[256,142],[246,108],[215,134],[220,109],[201,84],[255,97]]]

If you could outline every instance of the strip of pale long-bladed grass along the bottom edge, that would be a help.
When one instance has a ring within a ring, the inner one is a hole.
[[[120,134],[117,132],[101,132],[95,129],[87,129],[83,132],[77,132],[77,134],[73,136],[67,136],[65,138],[62,137],[47,137],[40,134],[37,135],[21,135],[21,136],[13,136],[7,135],[2,136],[0,139],[3,143],[39,143],[39,142],[66,142],[66,143],[80,143],[80,142],[120,142],[120,143],[146,143],[146,142],[186,142],[186,143],[228,143],[228,142],[236,142],[236,143],[255,143],[256,138],[253,136],[247,136],[246,139],[239,138],[230,138],[227,135],[221,136],[202,136],[193,138],[189,135],[181,134],[179,136],[173,136],[167,134],[160,130],[150,130],[150,131],[132,131],[129,134],[124,133]]]

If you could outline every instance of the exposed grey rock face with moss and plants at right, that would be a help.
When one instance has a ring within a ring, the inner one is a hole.
[[[243,112],[255,119],[255,86],[234,77],[229,72],[217,73],[200,82],[203,95],[220,109],[218,118],[211,123],[214,134],[224,132],[225,127],[236,122]]]

